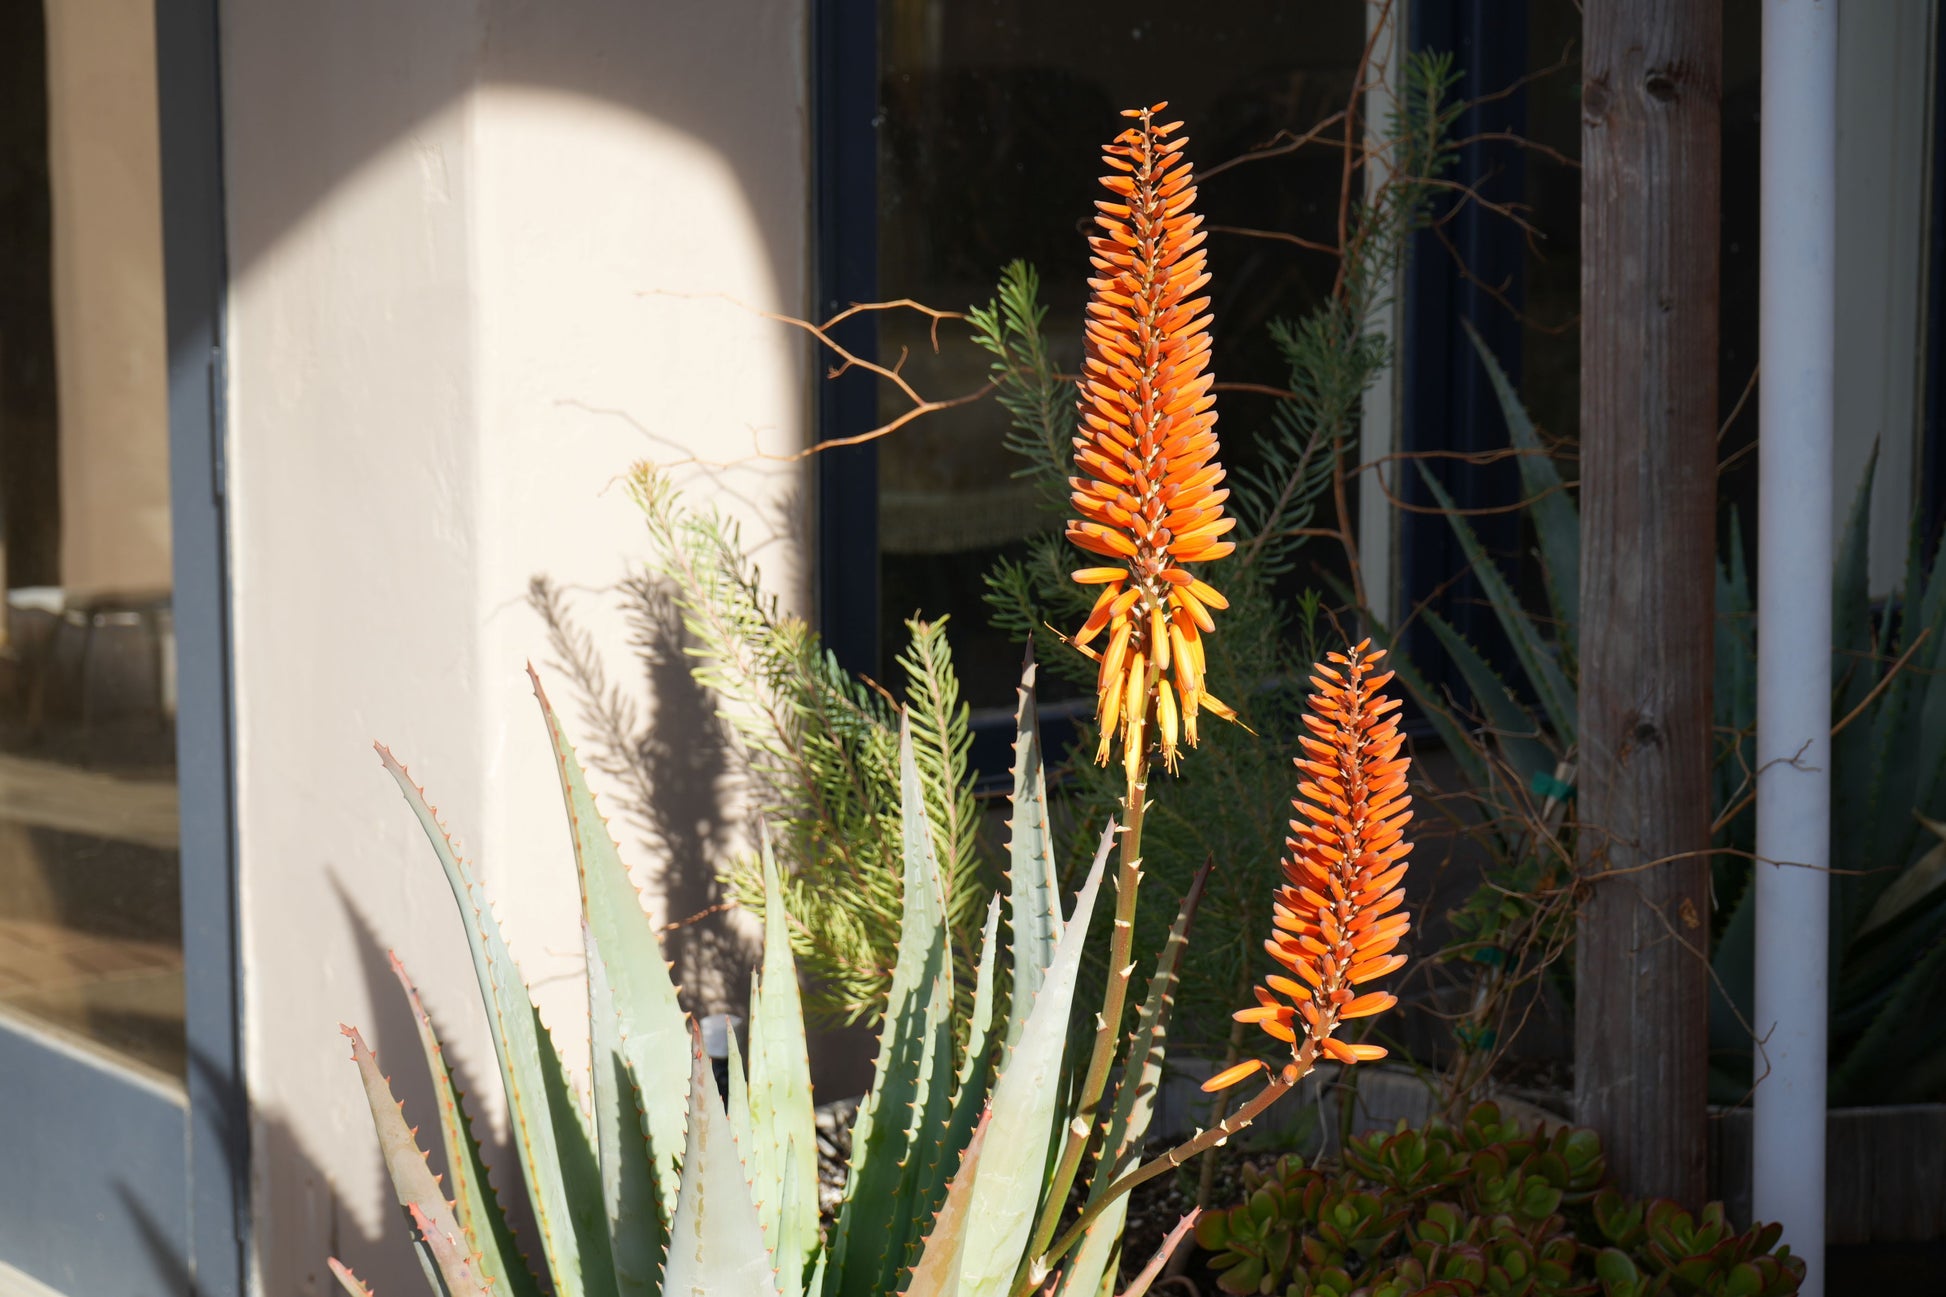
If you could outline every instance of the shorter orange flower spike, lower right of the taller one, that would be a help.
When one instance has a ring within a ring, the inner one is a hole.
[[[1413,849],[1405,841],[1411,760],[1401,756],[1399,701],[1380,693],[1391,672],[1372,674],[1382,656],[1384,648],[1364,641],[1351,654],[1327,654],[1335,666],[1319,664],[1312,676],[1317,691],[1304,717],[1312,732],[1296,758],[1298,818],[1284,839],[1290,855],[1273,908],[1277,935],[1263,943],[1292,976],[1265,978],[1257,1005],[1236,1015],[1288,1044],[1298,1063],[1317,1054],[1341,1063],[1386,1057],[1380,1046],[1347,1044],[1333,1032],[1399,1003],[1387,991],[1356,989],[1405,964],[1395,948],[1411,929],[1411,915],[1399,911],[1399,880]],[[1300,1030],[1308,1048],[1300,1048]],[[1240,1063],[1203,1089],[1236,1085],[1259,1067]]]

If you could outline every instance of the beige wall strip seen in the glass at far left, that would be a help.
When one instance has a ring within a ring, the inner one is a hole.
[[[47,6],[60,584],[169,588],[156,6]]]

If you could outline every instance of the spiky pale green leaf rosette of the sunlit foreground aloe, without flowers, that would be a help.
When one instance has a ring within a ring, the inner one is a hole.
[[[948,906],[911,728],[901,732],[905,906],[872,1093],[852,1130],[852,1167],[829,1239],[817,1215],[817,1133],[798,970],[782,880],[763,849],[763,966],[749,1046],[728,1102],[677,1003],[656,931],[559,719],[535,678],[574,837],[588,954],[592,1079],[582,1094],[533,1007],[473,867],[424,791],[379,748],[432,843],[467,927],[508,1100],[520,1184],[533,1211],[516,1241],[486,1180],[463,1096],[438,1036],[395,962],[440,1104],[450,1178],[438,1182],[352,1028],[379,1147],[432,1291],[448,1297],[648,1297],[882,1293],[1000,1297],[1026,1276],[1092,1297],[1115,1274],[1121,1213],[1094,1217],[1064,1258],[1029,1258],[1047,1205],[1055,1137],[1074,1118],[1068,1075],[1074,987],[1109,824],[1080,894],[1061,913],[1035,734],[1033,668],[1020,686],[1008,888],[987,906],[971,1017],[955,1020]],[[1142,1147],[1160,1075],[1175,970],[1195,896],[1158,954],[1123,1081],[1099,1124],[1111,1196]],[[1002,909],[1008,933],[1000,933]],[[1004,997],[1002,987],[1012,987]],[[1181,1235],[1177,1235],[1181,1237]],[[522,1252],[522,1246],[527,1252]],[[531,1262],[531,1268],[529,1268]],[[368,1293],[342,1264],[348,1293]]]

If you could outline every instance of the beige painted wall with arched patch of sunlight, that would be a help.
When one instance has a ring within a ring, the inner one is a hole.
[[[804,310],[804,14],[253,0],[224,6],[224,68],[259,1278],[325,1293],[337,1250],[378,1291],[413,1291],[337,1024],[366,1024],[395,1077],[420,1071],[383,966],[397,948],[463,1079],[492,1089],[492,1061],[451,900],[370,744],[428,785],[543,1011],[576,1020],[566,828],[522,674],[547,647],[525,586],[568,586],[636,687],[599,592],[644,551],[615,479],[644,456],[802,444],[798,341],[679,294]],[[767,578],[800,600],[802,473],[681,473],[767,541]],[[732,777],[712,771],[669,771],[662,810],[693,826],[669,851],[623,828],[656,908],[738,841]],[[701,987],[706,1007],[720,993]],[[401,1093],[430,1120],[422,1085]]]

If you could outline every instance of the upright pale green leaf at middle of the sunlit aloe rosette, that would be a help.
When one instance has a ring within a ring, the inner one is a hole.
[[[804,1003],[798,966],[790,956],[784,886],[763,837],[763,974],[751,987],[749,1130],[745,1159],[767,1239],[788,1239],[796,1256],[780,1250],[778,1270],[796,1274],[817,1246],[817,1114],[811,1108],[811,1059],[804,1044]],[[800,1157],[790,1157],[798,1149]],[[788,1174],[786,1174],[788,1163]],[[784,1213],[794,1213],[784,1219]]]

